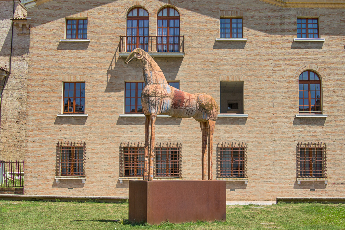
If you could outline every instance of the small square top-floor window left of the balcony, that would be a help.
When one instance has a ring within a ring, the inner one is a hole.
[[[66,39],[87,39],[87,19],[67,19]]]

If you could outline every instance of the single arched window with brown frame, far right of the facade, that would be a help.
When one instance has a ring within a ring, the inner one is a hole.
[[[321,114],[321,80],[313,71],[299,75],[299,113]]]

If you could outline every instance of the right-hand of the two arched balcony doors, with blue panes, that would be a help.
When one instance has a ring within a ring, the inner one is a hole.
[[[180,14],[175,8],[166,7],[157,15],[157,51],[179,52]]]

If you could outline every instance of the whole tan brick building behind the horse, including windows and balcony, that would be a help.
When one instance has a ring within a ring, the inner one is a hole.
[[[213,174],[227,200],[343,196],[345,1],[22,4],[24,194],[128,196],[143,174],[145,83],[124,61],[139,47],[171,86],[218,103]],[[154,179],[200,179],[199,122],[156,124]]]

